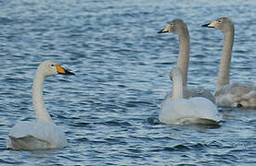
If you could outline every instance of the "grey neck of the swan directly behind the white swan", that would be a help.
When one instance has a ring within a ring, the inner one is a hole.
[[[177,66],[182,71],[183,85],[186,86],[187,70],[189,64],[189,33],[186,25],[178,32],[179,36],[179,57]]]

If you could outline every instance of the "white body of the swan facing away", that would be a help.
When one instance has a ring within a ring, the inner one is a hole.
[[[217,113],[214,103],[206,98],[167,98],[161,104],[160,122],[167,125],[201,124],[202,119],[219,122]]]

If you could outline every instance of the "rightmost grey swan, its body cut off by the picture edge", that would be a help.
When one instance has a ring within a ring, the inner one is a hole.
[[[229,84],[230,61],[235,34],[235,27],[231,18],[218,18],[209,24],[202,25],[202,27],[222,30],[224,33],[223,54],[214,92],[216,104],[222,107],[256,107],[255,84]]]

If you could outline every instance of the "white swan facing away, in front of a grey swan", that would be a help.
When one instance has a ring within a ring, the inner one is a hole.
[[[173,80],[172,98],[161,103],[159,120],[166,125],[218,124],[221,116],[216,105],[202,97],[183,98],[183,76],[179,67],[170,72]]]

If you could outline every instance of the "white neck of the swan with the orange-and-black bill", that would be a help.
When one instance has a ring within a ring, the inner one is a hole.
[[[43,98],[44,82],[44,75],[37,69],[32,85],[32,104],[37,120],[52,122],[52,118],[45,109],[45,101]]]

